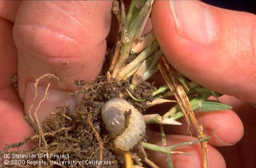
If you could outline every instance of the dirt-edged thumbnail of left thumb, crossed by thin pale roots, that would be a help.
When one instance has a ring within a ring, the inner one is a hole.
[[[34,111],[37,108],[39,101],[43,99],[45,89],[46,88],[44,87],[37,86],[38,97],[36,98],[36,101],[34,103],[32,114],[34,114]],[[25,112],[28,112],[28,109],[31,106],[34,96],[35,96],[34,85],[32,82],[28,82],[26,86],[25,99],[24,99]],[[37,116],[39,121],[42,122],[44,118],[49,117],[50,113],[54,112],[57,106],[69,106],[70,109],[75,110],[77,106],[77,102],[75,98],[68,98],[68,92],[66,91],[49,89],[48,98],[42,102],[40,108],[37,111]]]

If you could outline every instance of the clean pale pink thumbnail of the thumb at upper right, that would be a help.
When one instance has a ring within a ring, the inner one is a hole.
[[[210,43],[215,35],[209,7],[199,1],[169,1],[177,32],[195,43]]]

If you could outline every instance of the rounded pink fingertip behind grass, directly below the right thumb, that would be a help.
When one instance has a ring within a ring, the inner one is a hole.
[[[229,146],[237,143],[243,136],[243,124],[240,118],[232,110],[196,112],[199,125],[202,125],[203,132],[211,136],[209,143],[214,146]],[[181,119],[181,125],[166,128],[167,133],[188,134],[188,124]],[[170,130],[168,132],[168,130]],[[235,130],[235,131],[234,131]],[[230,133],[232,132],[232,133]],[[193,130],[196,136],[196,131]]]

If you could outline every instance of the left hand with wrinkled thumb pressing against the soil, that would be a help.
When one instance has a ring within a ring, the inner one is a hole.
[[[0,2],[0,150],[34,134],[24,111],[34,97],[33,83],[41,75],[55,74],[61,82],[39,82],[38,100],[51,83],[49,98],[38,110],[40,121],[56,106],[76,107],[75,99],[67,99],[68,91],[76,89],[75,79],[93,82],[98,76],[105,58],[111,5],[109,1]],[[11,87],[15,74],[19,96]]]

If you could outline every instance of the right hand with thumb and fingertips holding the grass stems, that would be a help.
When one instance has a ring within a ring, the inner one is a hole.
[[[199,1],[171,1],[171,4],[170,8],[168,1],[156,1],[151,14],[155,35],[170,64],[204,87],[255,103],[255,15],[221,9]],[[244,138],[233,148],[226,148],[230,152],[218,149],[226,156],[229,167],[254,167],[251,151],[255,149],[253,119],[256,115],[252,113],[255,109],[233,97],[223,96],[220,100],[231,104],[233,110],[196,113],[204,132],[212,137],[209,140],[210,167],[225,167],[222,156],[212,146],[232,145],[242,138],[243,125],[239,117],[244,122]],[[166,130],[170,134],[187,134],[187,125],[172,126]],[[190,140],[190,137],[180,135],[167,137],[171,144]],[[150,142],[161,144],[160,136],[150,139]],[[182,158],[173,154],[175,167],[199,167],[200,145],[177,150],[198,157]],[[166,165],[163,157],[157,157],[159,164]]]

